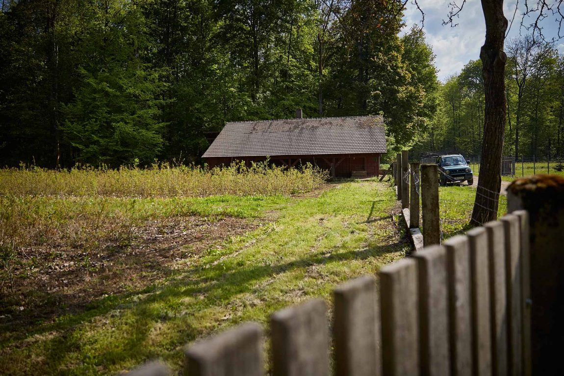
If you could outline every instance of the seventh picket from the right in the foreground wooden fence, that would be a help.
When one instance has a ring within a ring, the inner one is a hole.
[[[419,325],[417,264],[402,259],[380,269],[382,372],[386,376],[418,376]]]

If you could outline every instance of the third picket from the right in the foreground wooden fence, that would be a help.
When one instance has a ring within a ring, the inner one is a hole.
[[[503,223],[484,224],[488,235],[490,261],[490,308],[493,376],[508,374],[507,365],[507,298],[505,288],[505,235]]]

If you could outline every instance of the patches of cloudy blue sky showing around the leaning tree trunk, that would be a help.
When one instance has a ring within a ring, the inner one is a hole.
[[[443,26],[442,20],[447,18],[448,3],[452,0],[418,0],[422,10],[425,12],[424,30],[427,42],[433,46],[433,52],[437,55],[436,65],[439,69],[439,79],[445,79],[452,74],[459,73],[462,67],[469,60],[478,60],[480,47],[484,43],[486,36],[486,25],[482,6],[478,0],[467,0],[460,17],[456,20],[459,25],[451,27]],[[511,21],[515,10],[516,0],[505,0],[505,17]],[[461,3],[461,1],[459,2]],[[521,1],[520,3],[524,3]],[[406,29],[414,23],[420,24],[421,14],[411,3],[406,9]],[[508,39],[519,36],[519,26],[521,17],[519,12],[515,16],[513,26],[509,31]],[[544,23],[544,34],[547,38],[557,36],[557,23],[554,18],[547,18]],[[564,28],[564,25],[563,25]],[[521,29],[522,34],[526,34],[525,29]],[[562,30],[561,34],[564,33]],[[564,53],[564,39],[554,43],[561,53]]]

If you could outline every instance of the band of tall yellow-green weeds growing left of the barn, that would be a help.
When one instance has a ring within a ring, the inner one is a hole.
[[[214,169],[159,163],[149,169],[76,167],[47,170],[39,167],[0,170],[0,195],[104,196],[104,197],[206,197],[275,196],[309,192],[328,178],[327,171],[305,165],[283,169],[266,162],[233,163]]]

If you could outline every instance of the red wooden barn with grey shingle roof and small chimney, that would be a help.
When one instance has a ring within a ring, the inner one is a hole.
[[[262,161],[297,166],[310,162],[333,177],[380,174],[386,152],[382,116],[245,121],[227,123],[204,153],[210,167],[233,161]]]

